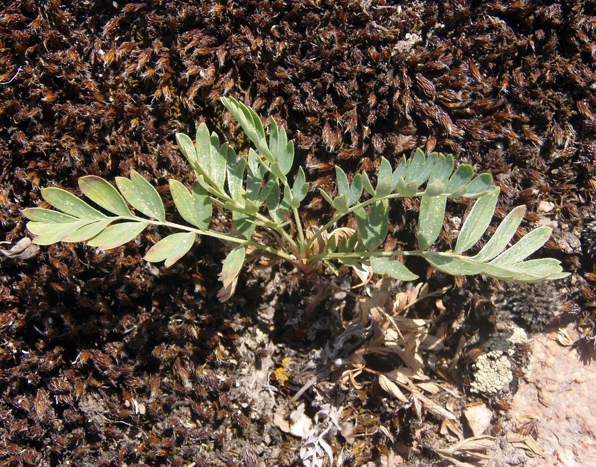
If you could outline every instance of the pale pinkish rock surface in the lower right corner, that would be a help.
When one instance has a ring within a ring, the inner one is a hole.
[[[596,462],[596,372],[556,337],[555,330],[532,341],[533,373],[520,383],[508,414],[512,422],[526,415],[538,419],[536,441],[545,458],[527,457],[507,444],[504,455],[496,456],[498,467],[590,467]]]

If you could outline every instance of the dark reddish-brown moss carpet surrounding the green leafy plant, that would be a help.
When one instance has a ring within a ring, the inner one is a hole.
[[[20,209],[48,207],[40,186],[73,190],[82,175],[113,178],[131,170],[160,193],[167,178],[188,182],[171,135],[206,121],[238,138],[231,116],[215,118],[219,97],[229,95],[289,124],[288,136],[299,143],[296,163],[306,165],[315,188],[328,192],[335,189],[335,165],[349,176],[357,168],[374,175],[381,155],[395,162],[416,147],[451,152],[458,164],[491,171],[502,193],[497,217],[523,203],[530,224],[543,216],[581,237],[582,252],[551,247],[566,269],[578,271],[573,300],[585,338],[596,342],[596,276],[586,234],[596,190],[592,3],[396,6],[379,0],[330,1],[321,8],[306,1],[26,0],[3,8],[4,252],[25,236]],[[308,198],[312,217],[325,214],[315,192]],[[542,201],[554,208],[535,212]],[[414,207],[392,209],[392,247],[415,238]],[[449,227],[461,224],[466,209],[448,206],[437,246],[452,247]],[[214,222],[228,220],[216,212]],[[72,245],[29,259],[0,255],[2,465],[157,466],[167,460],[202,467],[254,465],[255,456],[271,465],[296,463],[302,441],[283,438],[272,414],[235,382],[242,384],[244,370],[250,381],[266,381],[265,370],[249,370],[261,362],[272,371],[279,366],[285,355],[275,352],[287,348],[262,343],[243,352],[240,336],[263,327],[268,339],[282,340],[263,324],[262,305],[295,310],[300,294],[268,279],[250,286],[238,281],[235,301],[224,307],[214,292],[222,257],[212,244],[201,243],[194,257],[157,271],[138,260],[155,239],[147,231],[116,255]],[[468,282],[468,290],[475,285]],[[525,293],[535,295],[531,289],[519,295]],[[457,308],[457,300],[446,303]],[[418,319],[408,310],[396,316]],[[441,336],[430,323],[409,324],[413,342]],[[347,343],[358,341],[347,336]],[[395,342],[390,345],[405,349],[399,335]],[[422,345],[403,355],[433,355]],[[292,358],[303,362],[305,355],[296,350]],[[409,380],[412,387],[426,382]],[[348,390],[336,388],[350,394],[344,418],[358,419],[353,444],[343,451],[345,465],[366,465],[399,444],[412,446],[413,409],[385,396],[376,382],[354,381],[362,388],[351,382]],[[290,384],[273,382],[265,391],[283,399]],[[400,390],[413,403],[412,393]],[[428,391],[421,394],[431,399]],[[448,409],[442,394],[436,400]],[[399,408],[386,410],[389,399]],[[429,409],[421,406],[424,415]],[[341,452],[339,435],[323,439]]]

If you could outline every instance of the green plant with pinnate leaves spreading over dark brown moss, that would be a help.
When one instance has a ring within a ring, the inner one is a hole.
[[[417,149],[410,159],[403,157],[393,169],[385,158],[373,184],[368,174],[355,174],[352,180],[336,167],[337,195],[320,190],[336,214],[308,238],[300,216],[300,206],[309,192],[302,167],[293,180],[288,178],[294,162],[294,143],[283,127],[270,121],[269,136],[259,116],[233,98],[222,103],[243,128],[254,145],[238,158],[228,143],[219,142],[205,124],[197,128],[195,141],[176,134],[182,154],[193,167],[196,182],[189,190],[177,180],[169,180],[170,194],[182,219],[190,225],[166,221],[162,198],[141,174],[132,170],[129,178],[117,177],[116,187],[103,178],[82,177],[83,195],[98,208],[72,193],[58,188],[42,190],[42,196],[57,211],[44,208],[23,210],[27,227],[39,245],[55,242],[83,242],[98,249],[111,249],[138,236],[148,225],[163,225],[178,230],[151,247],[145,259],[164,261],[169,267],[194,245],[197,235],[216,237],[233,247],[224,261],[220,297],[227,299],[244,263],[257,255],[290,261],[310,274],[324,264],[336,274],[338,265],[357,272],[368,268],[398,280],[414,280],[417,275],[399,261],[399,256],[421,256],[433,267],[453,275],[484,274],[501,280],[536,281],[566,277],[555,259],[526,258],[548,240],[551,229],[536,228],[508,247],[523,220],[525,208],[518,206],[505,217],[492,237],[476,254],[469,254],[491,223],[499,189],[491,174],[474,177],[471,165],[454,170],[452,155]],[[395,198],[420,198],[418,249],[385,251],[381,249],[389,226],[389,201]],[[430,250],[443,228],[449,198],[476,199],[465,219],[452,252]],[[213,203],[232,213],[231,233],[210,230]],[[132,209],[131,209],[132,208]],[[353,216],[358,230],[336,228],[342,218]],[[257,233],[259,233],[257,235]]]

